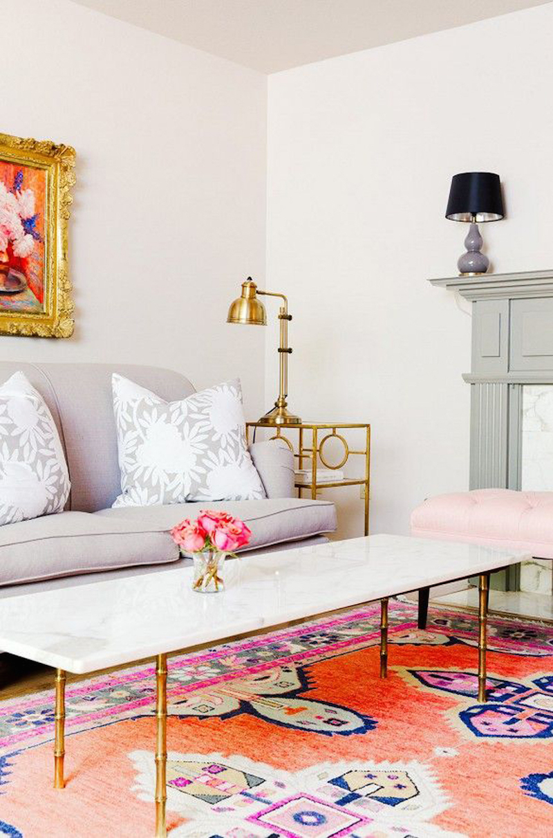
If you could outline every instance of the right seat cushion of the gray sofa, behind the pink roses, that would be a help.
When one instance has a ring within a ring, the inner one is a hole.
[[[335,505],[326,500],[266,498],[263,500],[219,500],[209,504],[129,506],[95,512],[95,517],[136,523],[151,530],[170,530],[183,518],[196,518],[203,509],[225,510],[243,520],[252,530],[246,550],[295,541],[336,529]],[[244,548],[243,548],[244,549]]]

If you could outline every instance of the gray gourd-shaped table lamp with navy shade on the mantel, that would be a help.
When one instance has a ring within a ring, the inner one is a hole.
[[[453,175],[445,217],[451,221],[470,223],[464,240],[467,252],[459,256],[459,273],[476,277],[489,268],[488,256],[480,253],[483,244],[479,221],[499,221],[504,217],[499,174],[463,172]]]

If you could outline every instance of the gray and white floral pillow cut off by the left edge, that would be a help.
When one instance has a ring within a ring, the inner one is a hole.
[[[62,512],[69,489],[52,414],[16,372],[0,386],[0,525]]]

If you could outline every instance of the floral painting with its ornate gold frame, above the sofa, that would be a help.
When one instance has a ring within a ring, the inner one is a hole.
[[[75,151],[0,133],[0,334],[69,338]]]

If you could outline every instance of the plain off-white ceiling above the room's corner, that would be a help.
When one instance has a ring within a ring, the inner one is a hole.
[[[274,73],[548,0],[74,0]]]

